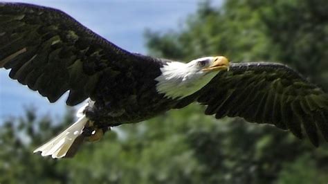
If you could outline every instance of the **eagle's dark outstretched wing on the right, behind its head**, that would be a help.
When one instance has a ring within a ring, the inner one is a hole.
[[[328,141],[328,95],[291,68],[273,63],[231,64],[198,93],[206,115],[273,124],[318,146],[317,127]]]

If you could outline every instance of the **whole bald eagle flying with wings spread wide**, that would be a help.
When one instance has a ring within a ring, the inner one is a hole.
[[[87,100],[78,120],[35,152],[71,157],[111,127],[181,109],[192,102],[215,118],[242,117],[290,130],[318,146],[328,141],[328,95],[288,66],[230,63],[224,56],[188,63],[129,53],[60,10],[0,3],[0,68],[56,102]]]

